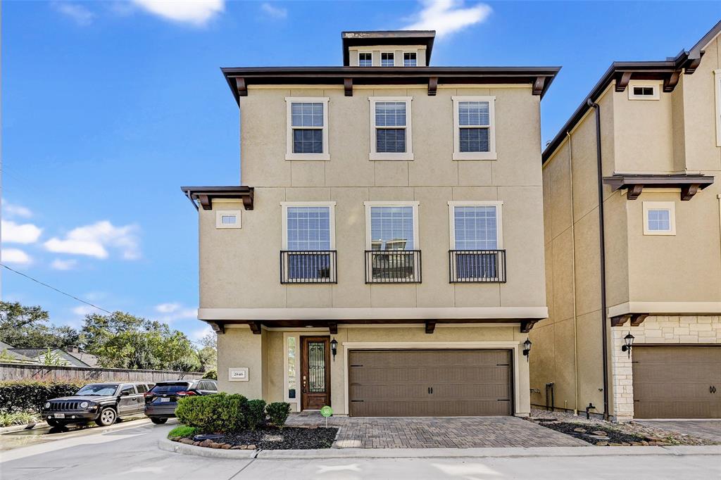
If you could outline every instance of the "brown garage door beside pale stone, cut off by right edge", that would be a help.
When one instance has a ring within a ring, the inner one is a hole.
[[[633,395],[636,418],[721,418],[721,346],[634,346]]]

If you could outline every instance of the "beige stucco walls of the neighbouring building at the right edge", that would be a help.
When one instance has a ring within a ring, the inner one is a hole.
[[[679,188],[645,187],[637,200],[627,190],[603,187],[606,295],[601,314],[596,174],[596,118],[585,114],[544,163],[544,236],[549,319],[531,340],[531,403],[544,405],[554,383],[555,406],[603,412],[602,321],[609,322],[609,414],[631,419],[635,345],[719,345],[721,339],[721,148],[717,145],[719,37],[693,74],[681,72],[673,92],[663,81],[632,79],[623,92],[611,81],[595,99],[601,112],[603,177],[614,174],[704,174],[715,182],[688,201]],[[634,85],[655,85],[658,99],[629,99]],[[671,205],[673,234],[645,232],[644,203]],[[610,326],[611,317],[649,316],[638,326]]]

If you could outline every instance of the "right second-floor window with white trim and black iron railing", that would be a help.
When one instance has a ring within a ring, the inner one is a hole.
[[[504,282],[502,202],[448,202],[451,283]]]

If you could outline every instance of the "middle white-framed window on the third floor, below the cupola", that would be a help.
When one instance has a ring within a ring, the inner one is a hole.
[[[369,97],[371,160],[412,160],[412,97]]]

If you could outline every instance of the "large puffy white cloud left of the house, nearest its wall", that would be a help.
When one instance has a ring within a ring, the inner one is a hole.
[[[109,221],[99,221],[92,225],[81,226],[69,231],[64,239],[53,237],[43,244],[50,252],[87,255],[105,259],[107,249],[118,249],[123,259],[140,258],[140,247],[135,225],[114,226]]]

